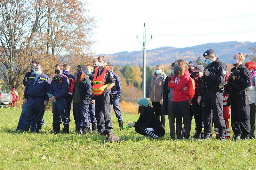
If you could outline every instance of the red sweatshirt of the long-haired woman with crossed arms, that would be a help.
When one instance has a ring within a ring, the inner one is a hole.
[[[185,74],[182,77],[173,76],[168,83],[168,87],[172,88],[172,101],[173,102],[182,102],[188,101],[189,97],[187,90],[182,90],[184,86],[189,87],[190,84],[190,75],[188,70],[185,71]],[[174,81],[174,83],[171,83]]]

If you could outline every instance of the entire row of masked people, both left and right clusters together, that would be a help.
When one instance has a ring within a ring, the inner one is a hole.
[[[209,139],[212,127],[217,139],[230,138],[229,106],[231,106],[231,127],[234,140],[254,139],[256,135],[256,65],[246,62],[244,53],[237,53],[232,59],[234,67],[229,74],[227,66],[220,61],[214,50],[203,54],[206,67],[195,61],[186,63],[177,60],[171,65],[171,73],[164,73],[164,66],[156,66],[150,81],[148,99],[139,100],[140,118],[135,131],[152,138],[165,134],[165,115],[168,115],[170,137],[189,139],[192,119],[196,123],[194,138]],[[69,73],[68,64],[56,64],[55,76],[50,79],[43,73],[44,67],[32,61],[31,71],[24,77],[24,101],[17,130],[40,133],[48,101],[52,102],[52,131],[69,133],[71,103],[78,134],[98,132],[105,129],[113,133],[111,105],[122,130],[123,119],[119,98],[122,93],[120,78],[114,73],[114,66],[99,56],[93,65],[77,66],[77,74]],[[175,124],[176,121],[176,124]]]

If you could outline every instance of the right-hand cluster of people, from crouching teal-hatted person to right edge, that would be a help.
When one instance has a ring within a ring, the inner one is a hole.
[[[195,61],[177,60],[171,65],[171,73],[165,75],[164,66],[156,66],[150,82],[149,96],[139,101],[140,118],[129,127],[153,138],[164,136],[165,115],[168,115],[170,137],[187,140],[190,137],[192,119],[196,123],[197,140],[212,137],[212,127],[217,139],[230,138],[229,106],[233,140],[254,139],[256,135],[256,65],[246,62],[244,53],[237,53],[231,60],[231,73],[220,61],[214,50],[203,54],[206,67]],[[155,114],[153,114],[155,112]],[[176,120],[176,125],[175,125]]]

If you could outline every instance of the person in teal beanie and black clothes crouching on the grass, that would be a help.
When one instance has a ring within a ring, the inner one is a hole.
[[[135,127],[135,131],[141,135],[160,138],[164,136],[164,125],[154,114],[154,109],[148,105],[148,99],[142,98],[138,102],[140,118],[135,123],[128,124],[130,128]]]

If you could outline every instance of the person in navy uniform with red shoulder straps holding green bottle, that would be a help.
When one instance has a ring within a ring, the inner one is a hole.
[[[55,65],[55,76],[52,77],[51,87],[49,93],[52,95],[50,100],[52,103],[52,131],[51,133],[60,132],[60,124],[63,122],[63,132],[69,133],[69,121],[67,116],[67,91],[68,91],[68,77],[62,74],[63,65]]]

